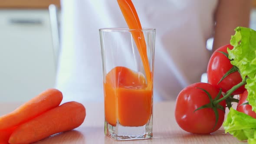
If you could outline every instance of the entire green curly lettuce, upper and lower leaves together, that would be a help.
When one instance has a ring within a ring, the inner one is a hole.
[[[247,101],[256,111],[256,31],[246,27],[237,27],[231,36],[230,44],[234,47],[227,49],[231,64],[235,65],[246,80],[248,91]],[[247,140],[249,144],[256,143],[256,119],[242,112],[230,109],[223,123],[225,133],[230,133],[238,140]]]

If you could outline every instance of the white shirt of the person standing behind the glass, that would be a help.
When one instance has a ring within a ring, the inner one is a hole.
[[[175,99],[200,82],[217,0],[133,0],[142,27],[156,29],[154,99]],[[56,88],[64,100],[103,101],[100,28],[128,27],[116,0],[62,0]]]

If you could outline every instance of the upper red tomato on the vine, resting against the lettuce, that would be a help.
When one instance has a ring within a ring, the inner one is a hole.
[[[222,53],[218,52],[221,51],[227,53],[227,48],[233,49],[233,46],[222,46],[215,52],[213,52],[207,67],[208,82],[214,86],[217,86],[218,88],[222,88],[223,92],[227,92],[234,85],[237,85],[238,83],[242,82],[240,73],[236,71],[228,75],[218,84],[223,75],[225,75],[226,72],[233,67],[233,65],[230,63],[230,60]],[[236,91],[233,92],[233,95],[241,94],[244,92],[244,90],[245,88],[243,85],[240,88],[236,89]]]

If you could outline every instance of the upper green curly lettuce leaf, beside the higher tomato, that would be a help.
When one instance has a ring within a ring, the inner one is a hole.
[[[256,31],[246,27],[237,27],[231,36],[232,50],[227,49],[231,64],[235,65],[243,79],[246,77],[245,88],[248,91],[247,101],[256,111]]]

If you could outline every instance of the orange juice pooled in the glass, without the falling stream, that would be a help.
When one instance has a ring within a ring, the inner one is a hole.
[[[152,90],[146,89],[144,75],[115,67],[104,84],[105,118],[115,126],[143,126],[151,115]]]

